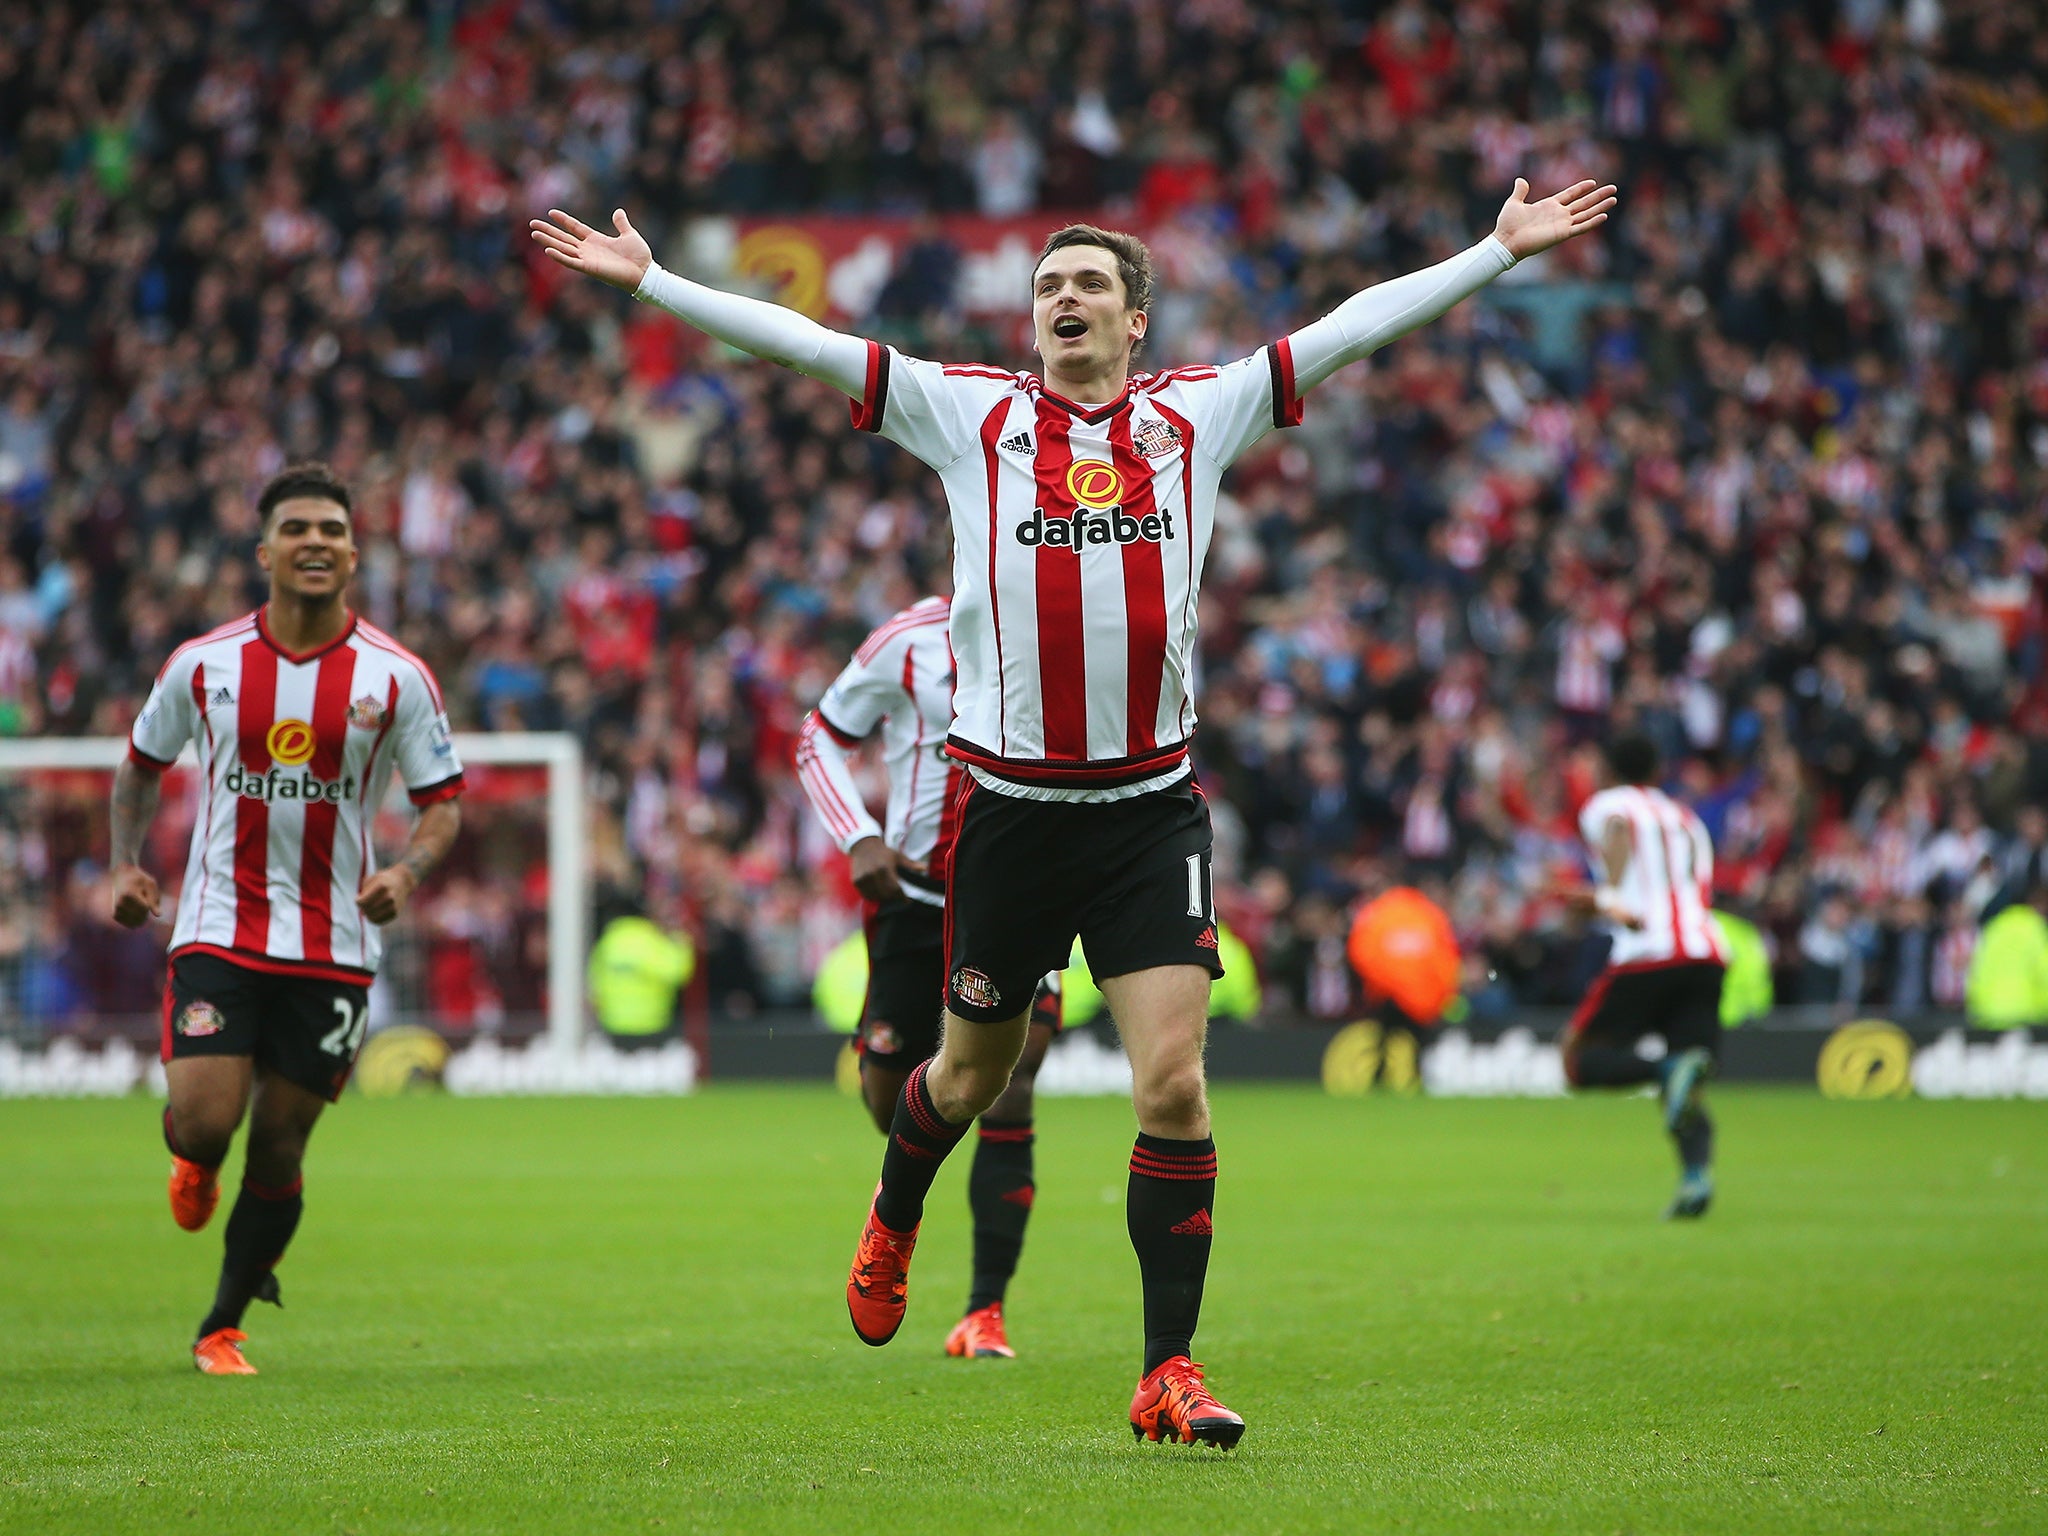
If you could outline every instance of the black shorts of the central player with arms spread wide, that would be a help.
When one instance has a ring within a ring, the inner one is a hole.
[[[1223,975],[1208,803],[1182,780],[1128,801],[1024,801],[973,778],[946,872],[946,1008],[1016,1018],[1079,936],[1100,981],[1159,965]]]

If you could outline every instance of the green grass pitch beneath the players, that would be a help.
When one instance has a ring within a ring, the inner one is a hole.
[[[2048,1106],[1714,1102],[1720,1206],[1665,1225],[1640,1100],[1221,1090],[1235,1456],[1124,1427],[1124,1104],[1040,1108],[1022,1358],[958,1362],[967,1157],[866,1350],[881,1147],[827,1090],[350,1100],[221,1380],[225,1204],[172,1227],[156,1108],[0,1104],[0,1530],[2048,1530]]]

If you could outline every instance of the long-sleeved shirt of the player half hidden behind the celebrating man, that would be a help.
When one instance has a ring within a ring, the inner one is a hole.
[[[889,825],[868,815],[846,762],[854,748],[883,731],[889,768]],[[926,598],[877,629],[831,680],[797,733],[797,780],[840,850],[881,838],[924,874],[899,870],[903,895],[946,905],[946,858],[961,766],[946,758],[952,725],[952,647],[946,641],[946,600]]]

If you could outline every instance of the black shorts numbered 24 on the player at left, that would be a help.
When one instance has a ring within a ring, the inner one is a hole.
[[[371,1018],[371,989],[272,975],[217,954],[180,954],[164,985],[164,1061],[254,1057],[330,1104],[342,1096]]]

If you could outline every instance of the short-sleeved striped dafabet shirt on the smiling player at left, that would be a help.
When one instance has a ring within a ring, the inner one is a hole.
[[[434,674],[354,616],[340,639],[293,655],[256,610],[172,653],[129,760],[162,772],[186,741],[205,805],[170,952],[365,981],[381,942],[354,897],[391,772],[414,805],[463,793]]]

